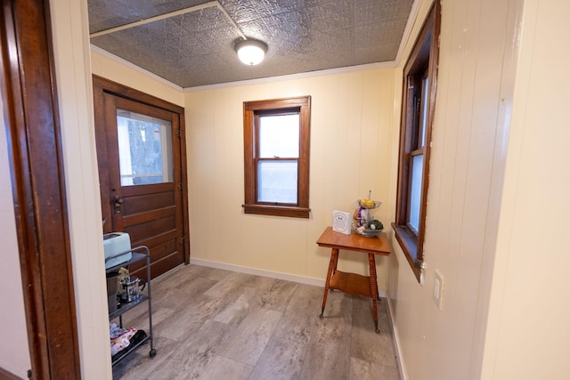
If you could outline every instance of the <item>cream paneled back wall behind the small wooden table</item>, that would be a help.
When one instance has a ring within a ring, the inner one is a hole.
[[[310,218],[244,214],[243,101],[311,95]],[[273,78],[186,93],[191,259],[326,277],[330,249],[316,240],[335,209],[353,212],[356,199],[384,202],[377,217],[389,228],[394,203],[394,69]],[[341,252],[339,268],[367,273],[365,255]],[[387,260],[377,258],[379,287]]]

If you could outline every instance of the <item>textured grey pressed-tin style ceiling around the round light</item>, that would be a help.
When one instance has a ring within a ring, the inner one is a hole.
[[[185,88],[394,61],[412,3],[88,0],[89,30],[92,44]],[[268,45],[265,61],[238,60],[233,45],[243,36]]]

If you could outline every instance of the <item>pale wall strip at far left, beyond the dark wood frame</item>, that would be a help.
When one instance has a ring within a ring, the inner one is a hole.
[[[0,96],[0,242],[2,265],[0,265],[0,368],[26,378],[31,362],[28,351],[26,311],[20,275],[20,255],[16,237],[16,220],[12,198],[10,166],[6,133],[4,130],[4,106]],[[8,344],[10,343],[10,344]]]

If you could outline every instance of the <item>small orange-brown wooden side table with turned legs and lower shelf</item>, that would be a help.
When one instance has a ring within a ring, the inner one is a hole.
[[[327,295],[329,289],[338,289],[340,291],[351,293],[354,295],[365,295],[372,299],[372,311],[374,316],[374,327],[376,332],[379,333],[378,328],[378,282],[376,279],[376,261],[374,255],[390,255],[390,246],[386,234],[380,232],[379,236],[374,238],[364,238],[355,233],[346,235],[344,233],[332,230],[332,227],[327,227],[322,232],[321,238],[317,240],[319,247],[330,247],[330,263],[329,272],[327,273],[327,280],[324,285],[324,295],[322,295],[322,313],[327,304]],[[338,250],[345,249],[347,251],[361,252],[368,254],[368,263],[370,265],[370,276],[362,276],[355,273],[347,273],[337,271],[338,263]]]

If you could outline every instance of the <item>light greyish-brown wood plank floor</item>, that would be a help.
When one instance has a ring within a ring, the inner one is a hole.
[[[115,379],[399,379],[386,313],[379,303],[322,287],[198,265],[152,281],[154,347],[139,348]],[[125,327],[148,333],[147,308]]]

